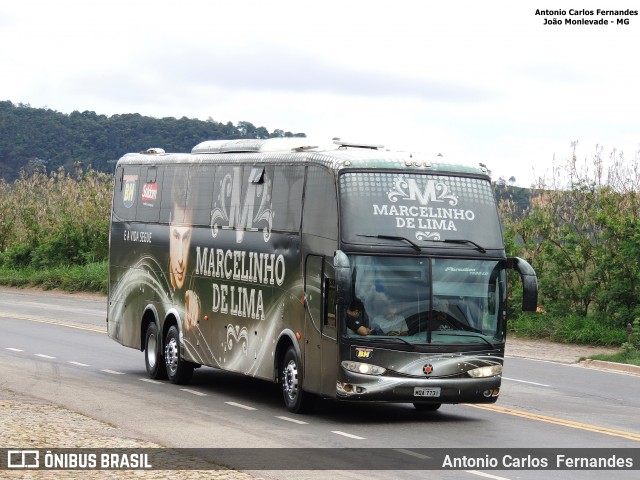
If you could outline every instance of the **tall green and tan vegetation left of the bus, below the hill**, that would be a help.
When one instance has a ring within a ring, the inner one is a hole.
[[[79,167],[0,180],[0,282],[106,293],[111,184]]]

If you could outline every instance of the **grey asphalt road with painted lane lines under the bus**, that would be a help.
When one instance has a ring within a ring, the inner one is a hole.
[[[0,388],[46,399],[168,447],[391,448],[411,455],[416,449],[499,447],[624,453],[640,445],[640,377],[633,375],[508,358],[495,405],[443,405],[427,414],[411,405],[324,401],[312,414],[293,415],[282,405],[276,385],[239,375],[201,368],[188,386],[150,381],[143,354],[107,337],[100,297],[0,289],[0,325]],[[323,473],[258,475],[304,479],[323,478]],[[430,471],[429,477],[533,479],[540,473],[470,468]],[[637,473],[613,475],[636,478]],[[383,471],[341,475],[389,478]],[[611,474],[544,474],[605,475]],[[407,471],[402,477],[424,478],[424,472]]]

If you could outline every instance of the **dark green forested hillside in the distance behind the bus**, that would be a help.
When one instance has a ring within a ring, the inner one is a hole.
[[[80,163],[111,172],[127,152],[150,147],[189,152],[204,140],[225,138],[305,137],[304,133],[256,127],[250,122],[220,123],[182,117],[144,117],[137,113],[64,114],[29,105],[0,101],[0,178],[14,180],[21,169],[44,165],[48,171]]]

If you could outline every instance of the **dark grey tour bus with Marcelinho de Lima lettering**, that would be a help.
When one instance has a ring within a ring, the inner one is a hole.
[[[152,148],[115,171],[108,334],[148,376],[201,366],[315,398],[493,403],[507,258],[489,172],[379,145],[307,138]]]

